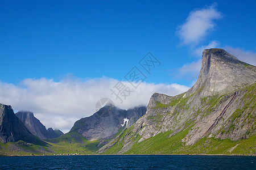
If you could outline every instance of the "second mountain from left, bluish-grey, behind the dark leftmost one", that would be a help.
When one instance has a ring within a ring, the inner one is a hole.
[[[34,113],[32,112],[19,111],[15,114],[32,134],[41,139],[56,138],[60,135],[63,135],[60,130],[53,130],[52,128],[46,130],[46,126],[44,126],[37,118],[35,118]]]

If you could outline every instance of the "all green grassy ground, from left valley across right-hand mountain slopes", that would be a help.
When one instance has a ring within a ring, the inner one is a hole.
[[[229,134],[236,130],[234,125],[237,124],[250,124],[251,128],[246,131],[246,139],[241,139],[240,141],[232,141],[229,138],[221,140],[209,135],[197,141],[192,146],[186,146],[182,139],[185,138],[189,131],[195,126],[195,118],[191,118],[190,121],[184,122],[185,128],[171,135],[174,131],[166,131],[165,133],[160,133],[154,137],[145,139],[139,142],[142,137],[138,133],[133,132],[133,126],[128,129],[119,129],[118,133],[113,137],[113,139],[108,139],[106,141],[88,141],[79,133],[75,131],[69,132],[67,134],[61,135],[61,137],[55,139],[44,140],[47,145],[42,145],[42,143],[37,143],[33,145],[31,143],[26,143],[23,141],[18,142],[0,142],[0,155],[42,155],[42,154],[94,154],[97,152],[98,148],[104,146],[105,143],[109,142],[110,148],[106,149],[104,154],[117,154],[122,150],[123,146],[127,142],[133,143],[130,148],[123,151],[123,154],[236,154],[236,155],[250,155],[256,154],[255,150],[255,87],[256,84],[247,86],[241,89],[245,92],[242,98],[242,104],[238,105],[236,111],[233,112],[225,122],[229,122],[228,126],[223,126],[219,134]],[[177,115],[182,114],[182,109],[188,109],[189,107],[189,97],[182,98],[181,95],[176,96],[170,103],[164,105],[157,103],[155,109],[166,108],[169,106],[177,105],[179,110],[175,111],[175,118]],[[193,96],[193,95],[192,95]],[[222,98],[225,96],[212,96],[201,98],[201,110],[194,110],[192,115],[197,117],[197,114],[202,114],[203,117],[207,116],[212,112],[218,104],[222,102]],[[209,107],[206,107],[206,106]],[[203,106],[203,107],[202,107]],[[161,119],[160,113],[156,114],[154,117],[147,117],[148,120],[153,120],[153,122],[158,123]],[[160,123],[160,122],[159,122]],[[175,124],[174,124],[175,125]],[[171,136],[171,137],[170,137]],[[45,143],[43,143],[45,144]],[[100,147],[97,147],[100,146]]]

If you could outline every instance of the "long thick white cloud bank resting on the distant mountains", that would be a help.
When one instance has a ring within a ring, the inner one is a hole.
[[[188,90],[179,84],[144,82],[135,89],[129,82],[122,82],[133,92],[121,104],[110,91],[117,83],[118,80],[112,78],[67,78],[60,82],[46,78],[25,79],[18,86],[0,82],[0,103],[11,105],[15,111],[32,111],[47,128],[67,132],[76,120],[92,115],[101,98],[108,97],[117,107],[128,109],[147,105],[154,92],[174,96]]]

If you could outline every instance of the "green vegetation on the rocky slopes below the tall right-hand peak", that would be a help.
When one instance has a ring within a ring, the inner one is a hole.
[[[233,92],[226,95],[215,95],[202,97],[200,108],[191,108],[191,103],[195,99],[195,94],[187,97],[183,95],[176,96],[167,104],[156,102],[155,106],[150,108],[153,114],[146,115],[147,121],[151,124],[159,124],[162,120],[163,111],[167,107],[173,107],[175,120],[172,126],[176,126],[181,111],[189,109],[191,117],[184,121],[183,126],[176,127],[175,130],[169,130],[164,133],[158,133],[153,137],[141,140],[141,135],[133,133],[136,131],[133,127],[125,129],[121,135],[111,141],[105,150],[100,151],[101,154],[234,154],[234,155],[255,155],[255,83],[251,86],[238,89],[241,98],[234,104],[236,110],[231,112],[229,117],[222,118],[225,122],[222,128],[217,131],[218,137],[214,133],[209,133],[201,138],[193,145],[186,145],[185,138],[189,137],[189,131],[196,129],[193,126],[196,120],[193,117],[201,118],[211,114],[214,109],[218,108],[224,101],[229,101],[234,95]],[[237,105],[238,104],[238,105]],[[225,106],[225,104],[222,106]],[[231,111],[231,110],[230,110]],[[151,125],[150,124],[150,125]],[[141,127],[143,129],[144,126]],[[156,127],[156,126],[155,126]],[[221,126],[220,126],[221,127]],[[246,135],[238,140],[232,140],[229,135],[236,135],[237,131],[246,127]],[[215,132],[216,133],[216,132]],[[140,141],[140,142],[139,142]],[[142,141],[142,142],[141,142]],[[129,145],[129,147],[127,147]]]

